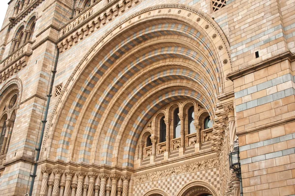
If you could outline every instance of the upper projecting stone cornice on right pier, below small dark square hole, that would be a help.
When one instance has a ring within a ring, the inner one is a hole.
[[[294,62],[295,61],[295,53],[291,53],[290,51],[284,52],[282,54],[279,54],[279,55],[273,56],[269,59],[266,59],[260,63],[250,65],[245,68],[233,71],[232,73],[229,73],[226,77],[227,77],[227,79],[234,81],[235,79],[240,78],[244,75],[248,75],[250,73],[253,73],[255,71],[258,71],[260,69],[263,69],[263,68],[271,66],[271,65],[275,65],[275,64],[280,63],[285,60],[289,60],[290,62]]]

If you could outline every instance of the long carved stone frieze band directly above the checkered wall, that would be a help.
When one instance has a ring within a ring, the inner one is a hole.
[[[159,180],[162,178],[167,178],[171,176],[176,176],[183,173],[190,173],[193,171],[203,170],[218,165],[218,160],[216,159],[207,159],[195,163],[183,164],[180,166],[164,169],[161,171],[150,172],[143,175],[135,177],[135,184],[141,184],[148,181]]]

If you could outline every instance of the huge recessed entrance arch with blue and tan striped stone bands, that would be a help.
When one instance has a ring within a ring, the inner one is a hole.
[[[156,6],[126,18],[68,80],[43,158],[133,167],[141,131],[165,104],[194,99],[214,117],[231,70],[227,48],[217,24],[190,7]]]

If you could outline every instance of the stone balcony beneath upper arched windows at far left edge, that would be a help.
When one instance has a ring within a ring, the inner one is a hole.
[[[0,63],[0,83],[27,65],[28,58],[32,54],[32,43],[27,41]]]

